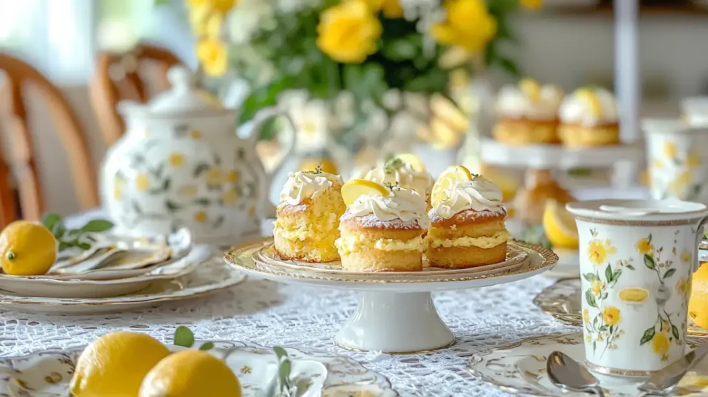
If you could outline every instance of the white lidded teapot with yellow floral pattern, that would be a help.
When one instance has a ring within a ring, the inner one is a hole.
[[[118,104],[127,131],[103,163],[103,207],[129,236],[183,226],[205,243],[258,236],[261,220],[275,215],[271,177],[295,146],[294,136],[286,139],[285,156],[266,173],[256,154],[259,125],[285,114],[264,109],[251,135],[239,137],[236,110],[196,87],[188,69],[173,67],[168,78],[173,88],[149,103]]]

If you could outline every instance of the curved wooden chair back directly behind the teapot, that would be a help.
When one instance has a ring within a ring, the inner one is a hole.
[[[156,64],[156,76],[142,79],[141,65],[145,61]],[[151,90],[146,81],[154,82],[153,91],[166,90],[170,86],[167,71],[176,64],[181,62],[169,50],[147,44],[139,45],[125,54],[98,54],[89,91],[93,113],[96,114],[106,144],[113,144],[125,131],[125,122],[116,110],[118,102],[147,102]]]

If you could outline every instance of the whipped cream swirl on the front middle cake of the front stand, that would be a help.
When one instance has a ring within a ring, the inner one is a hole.
[[[421,229],[428,229],[428,207],[426,200],[415,190],[394,187],[391,193],[385,197],[377,195],[362,195],[352,205],[348,211],[354,217],[364,217],[369,214],[381,221],[418,221]]]

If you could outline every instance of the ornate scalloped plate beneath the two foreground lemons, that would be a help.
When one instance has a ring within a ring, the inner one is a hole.
[[[278,372],[278,357],[268,347],[241,342],[214,344],[210,352],[217,357],[224,357],[236,348],[227,355],[226,362],[239,377],[243,396],[258,396]],[[177,351],[184,347],[170,349]],[[84,347],[73,347],[1,358],[0,397],[69,396],[69,382],[82,350]],[[348,357],[308,354],[288,347],[285,351],[292,362],[291,379],[305,378],[312,382],[304,396],[398,396],[385,376]]]

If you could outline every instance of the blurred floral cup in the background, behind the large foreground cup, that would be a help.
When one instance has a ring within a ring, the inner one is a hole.
[[[708,204],[708,127],[644,120],[651,197]]]

